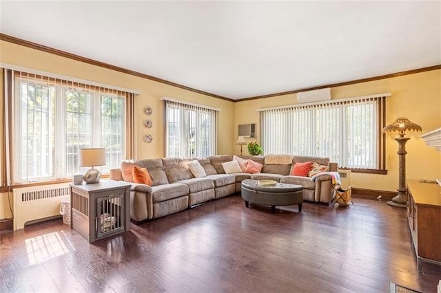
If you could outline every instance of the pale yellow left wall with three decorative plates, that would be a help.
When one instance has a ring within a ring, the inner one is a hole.
[[[161,100],[163,97],[220,109],[218,113],[218,153],[233,153],[234,151],[234,137],[232,136],[234,102],[81,63],[39,50],[32,50],[6,41],[0,41],[0,52],[1,63],[140,91],[141,95],[137,102],[136,111],[136,158],[163,157],[163,101]],[[151,116],[145,115],[144,108],[146,106],[152,107]],[[3,119],[3,115],[0,117]],[[143,121],[147,118],[153,122],[153,127],[148,130],[143,125]],[[147,133],[153,137],[150,144],[143,141],[143,137]],[[6,193],[0,194],[0,219],[10,217],[6,198]]]

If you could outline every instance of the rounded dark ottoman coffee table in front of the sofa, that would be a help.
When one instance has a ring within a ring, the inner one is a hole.
[[[276,183],[275,186],[260,186],[258,180],[245,179],[242,182],[242,198],[245,206],[249,203],[271,206],[271,213],[276,206],[290,206],[298,204],[298,211],[302,211],[303,186],[296,184]]]

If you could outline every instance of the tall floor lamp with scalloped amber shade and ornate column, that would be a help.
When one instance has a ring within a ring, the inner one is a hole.
[[[410,138],[404,138],[406,131],[422,131],[420,125],[411,122],[405,117],[398,117],[392,124],[383,128],[383,132],[398,131],[400,136],[395,138],[398,142],[398,195],[393,197],[390,202],[391,206],[398,206],[400,208],[407,207],[407,187],[406,187],[406,142]]]

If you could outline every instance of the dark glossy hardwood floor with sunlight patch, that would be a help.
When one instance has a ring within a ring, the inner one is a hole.
[[[0,235],[0,292],[436,292],[406,210],[353,197],[271,214],[233,195],[89,244],[61,219]]]

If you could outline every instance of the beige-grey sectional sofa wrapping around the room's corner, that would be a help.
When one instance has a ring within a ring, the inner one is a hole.
[[[242,157],[262,164],[260,173],[225,174],[223,163],[232,162],[233,155],[212,155],[208,158],[158,158],[125,160],[121,169],[112,169],[110,179],[130,182],[131,217],[136,221],[156,219],[212,199],[240,192],[245,179],[276,180],[277,182],[303,186],[303,199],[309,202],[329,204],[335,196],[330,175],[314,178],[290,175],[296,162],[317,162],[337,171],[337,164],[327,158],[266,155]],[[194,177],[189,162],[197,160],[205,171],[204,177]],[[151,186],[134,183],[133,166],[147,169]]]

